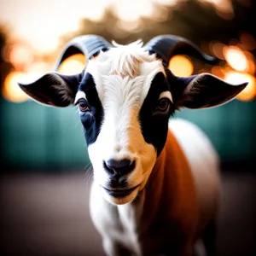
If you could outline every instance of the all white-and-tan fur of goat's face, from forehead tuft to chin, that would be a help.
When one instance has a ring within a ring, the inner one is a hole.
[[[141,42],[101,52],[86,67],[86,73],[94,78],[104,109],[101,131],[96,142],[88,147],[96,183],[102,187],[108,186],[103,160],[136,160],[136,168],[127,178],[127,183],[129,188],[140,186],[122,199],[110,197],[102,189],[105,198],[112,203],[132,201],[145,185],[154,166],[155,148],[145,143],[137,117],[154,76],[160,72],[165,74],[161,61],[155,55],[149,55]],[[164,95],[172,100],[170,92]],[[80,97],[84,95],[78,92],[76,102]]]

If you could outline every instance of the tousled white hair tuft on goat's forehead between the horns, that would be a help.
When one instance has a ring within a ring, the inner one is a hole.
[[[140,75],[140,64],[143,62],[156,61],[155,55],[149,55],[143,49],[143,41],[122,45],[112,42],[114,48],[104,53],[103,59],[111,60],[109,75],[118,75],[121,78],[130,77],[135,79]]]

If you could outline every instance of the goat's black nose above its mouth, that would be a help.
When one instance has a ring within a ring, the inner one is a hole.
[[[133,171],[133,169],[135,168],[135,160],[131,162],[131,160],[129,159],[110,159],[107,162],[104,161],[103,165],[108,174],[123,176]]]

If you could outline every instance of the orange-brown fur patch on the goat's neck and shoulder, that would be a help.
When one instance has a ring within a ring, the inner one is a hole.
[[[171,131],[144,193],[141,222],[148,230],[143,234],[147,238],[142,235],[143,254],[149,255],[159,247],[158,253],[191,255],[199,207],[188,161]],[[150,245],[155,247],[151,249]]]

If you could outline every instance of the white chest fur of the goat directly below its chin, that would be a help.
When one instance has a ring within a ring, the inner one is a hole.
[[[138,239],[138,207],[130,204],[113,206],[102,197],[96,184],[92,184],[90,194],[90,216],[103,240],[109,239],[125,248],[129,248],[136,255],[141,254]]]

